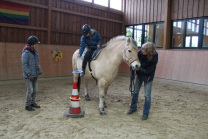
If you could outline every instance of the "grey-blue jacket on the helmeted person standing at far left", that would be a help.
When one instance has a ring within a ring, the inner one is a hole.
[[[41,67],[39,65],[38,52],[26,45],[21,56],[23,77],[28,79],[28,74],[38,77]]]

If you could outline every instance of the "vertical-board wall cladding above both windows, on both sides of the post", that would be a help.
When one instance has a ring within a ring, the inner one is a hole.
[[[207,0],[171,0],[171,20],[208,16],[207,7]],[[126,0],[125,11],[126,25],[164,21],[165,0]]]

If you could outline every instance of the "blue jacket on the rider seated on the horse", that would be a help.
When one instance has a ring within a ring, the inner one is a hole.
[[[81,40],[80,40],[80,49],[79,49],[79,54],[82,55],[85,46],[87,46],[88,49],[97,49],[97,45],[101,46],[102,44],[102,39],[98,32],[94,29],[91,29],[91,35],[89,37],[85,37],[85,35],[82,35]]]

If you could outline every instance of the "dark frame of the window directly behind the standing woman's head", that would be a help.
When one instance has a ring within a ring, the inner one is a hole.
[[[137,38],[135,38],[135,36],[136,36],[136,34],[135,34],[135,32],[136,32],[135,29],[136,28],[135,27],[136,26],[142,26],[142,29],[139,29],[139,30],[142,31],[142,33],[141,33],[141,46],[142,46],[145,43],[145,39],[146,39],[145,38],[145,32],[147,32],[147,31],[145,30],[145,26],[146,25],[153,25],[153,41],[151,41],[151,42],[155,43],[156,42],[156,28],[157,28],[156,25],[157,24],[163,24],[164,25],[164,22],[154,22],[154,23],[145,23],[145,24],[126,25],[125,26],[125,35],[127,35],[127,32],[126,32],[127,28],[131,28],[132,29],[132,35],[131,36],[127,36],[127,37],[132,37],[134,40],[137,41]],[[138,47],[140,48],[141,46],[138,46]],[[158,46],[157,48],[163,48],[163,46]]]

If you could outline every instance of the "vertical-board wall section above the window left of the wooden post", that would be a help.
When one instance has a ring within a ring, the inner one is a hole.
[[[163,21],[164,2],[165,0],[126,0],[125,24],[132,25]]]

